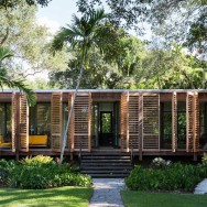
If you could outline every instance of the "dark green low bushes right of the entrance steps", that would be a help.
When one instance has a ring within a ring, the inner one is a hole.
[[[160,165],[156,165],[160,166]],[[173,163],[168,166],[143,168],[135,166],[126,184],[133,190],[179,190],[193,192],[207,177],[207,165]]]

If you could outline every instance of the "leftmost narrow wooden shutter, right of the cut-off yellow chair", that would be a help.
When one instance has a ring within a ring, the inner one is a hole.
[[[18,95],[15,92],[12,94],[12,100],[11,100],[11,146],[12,152],[15,152],[17,150],[17,133],[18,133],[18,109],[19,109],[19,101],[18,101]]]

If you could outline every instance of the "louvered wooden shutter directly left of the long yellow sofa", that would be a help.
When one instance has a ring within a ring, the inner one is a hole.
[[[29,106],[25,95],[20,95],[20,150],[29,152]]]

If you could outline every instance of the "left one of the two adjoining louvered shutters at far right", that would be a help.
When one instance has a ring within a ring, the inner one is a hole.
[[[186,100],[186,151],[193,152],[193,139],[194,139],[194,94],[187,92],[187,100]]]

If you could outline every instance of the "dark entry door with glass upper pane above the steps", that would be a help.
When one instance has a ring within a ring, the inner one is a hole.
[[[100,112],[100,132],[99,132],[99,145],[112,146],[113,145],[113,129],[112,129],[112,112]]]

